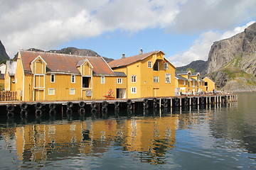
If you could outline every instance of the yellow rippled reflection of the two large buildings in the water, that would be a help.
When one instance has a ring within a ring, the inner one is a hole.
[[[13,125],[13,118],[11,123],[8,119],[12,128],[6,134],[15,140],[18,159],[42,162],[63,159],[67,153],[101,157],[114,147],[124,152],[139,153],[132,157],[139,157],[141,162],[163,164],[166,150],[174,147],[176,116],[152,120],[150,117],[136,117],[133,111],[122,117],[116,111],[113,117],[106,112],[95,113],[101,114],[101,119],[94,120],[96,115],[85,118],[84,113],[76,114],[82,121],[73,120],[75,113],[70,112],[67,112],[66,120],[55,120],[54,111],[48,114],[48,121],[43,120],[46,114],[34,115],[35,123],[32,124],[27,123],[28,118],[22,117],[18,127]]]

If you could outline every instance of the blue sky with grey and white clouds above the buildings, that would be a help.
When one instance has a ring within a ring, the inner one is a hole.
[[[19,49],[90,49],[119,59],[162,50],[175,65],[207,60],[216,40],[256,21],[255,0],[0,0],[0,40]]]

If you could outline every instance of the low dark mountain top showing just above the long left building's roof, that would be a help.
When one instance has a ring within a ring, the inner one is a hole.
[[[40,51],[44,52],[43,50],[39,50],[36,48],[30,48],[28,50],[31,51]],[[55,52],[55,53],[60,53],[60,54],[68,54],[68,55],[82,55],[82,56],[95,56],[95,57],[100,57],[100,55],[97,54],[97,52],[93,50],[87,50],[87,49],[78,49],[76,47],[66,47],[61,50],[48,50],[46,52]],[[106,62],[111,62],[113,59],[103,57]]]

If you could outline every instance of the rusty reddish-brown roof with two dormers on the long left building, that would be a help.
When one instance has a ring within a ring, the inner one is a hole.
[[[20,50],[19,53],[21,55],[24,72],[31,72],[31,62],[40,55],[47,63],[47,72],[80,74],[77,65],[80,64],[80,62],[85,62],[85,60],[88,60],[90,64],[92,64],[92,71],[94,74],[114,75],[114,72],[102,57],[65,55],[50,52],[33,52],[27,50]]]

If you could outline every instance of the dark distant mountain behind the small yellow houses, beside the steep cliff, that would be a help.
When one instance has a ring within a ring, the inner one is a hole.
[[[206,61],[196,60],[196,61],[193,61],[193,62],[191,62],[190,64],[188,64],[186,66],[177,67],[176,70],[177,71],[183,71],[183,70],[191,68],[191,69],[194,69],[196,72],[200,72],[201,73],[201,72],[205,72],[206,64],[207,64]]]

